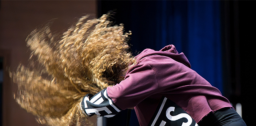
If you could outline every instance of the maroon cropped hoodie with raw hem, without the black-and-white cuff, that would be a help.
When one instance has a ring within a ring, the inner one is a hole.
[[[175,102],[196,122],[209,112],[232,107],[220,91],[191,69],[174,45],[160,51],[143,50],[135,57],[124,81],[107,87],[107,94],[122,110],[135,108],[140,126],[147,126],[162,96]]]

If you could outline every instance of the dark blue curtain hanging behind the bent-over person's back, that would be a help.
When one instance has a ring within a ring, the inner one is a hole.
[[[131,6],[134,51],[173,44],[193,70],[223,91],[219,1],[132,1]]]

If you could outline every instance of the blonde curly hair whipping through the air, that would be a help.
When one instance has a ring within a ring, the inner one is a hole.
[[[15,100],[39,123],[90,123],[80,109],[82,98],[119,83],[129,63],[135,62],[127,44],[130,33],[124,33],[122,24],[113,25],[111,13],[99,19],[88,17],[81,17],[60,38],[51,33],[50,23],[33,30],[26,42],[30,59],[36,60],[10,72],[18,85]]]

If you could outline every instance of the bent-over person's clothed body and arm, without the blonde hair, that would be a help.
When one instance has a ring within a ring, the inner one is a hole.
[[[135,59],[119,84],[84,97],[85,114],[112,117],[134,108],[140,126],[246,126],[174,45],[143,50]]]

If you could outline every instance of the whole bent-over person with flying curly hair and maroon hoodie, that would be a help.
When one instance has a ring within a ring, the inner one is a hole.
[[[83,16],[63,34],[52,34],[51,22],[31,32],[30,64],[10,70],[21,108],[49,126],[93,126],[90,116],[113,117],[127,108],[135,109],[140,126],[196,126],[217,113],[230,117],[217,123],[243,123],[174,45],[133,57],[131,32],[113,25],[112,15]]]

